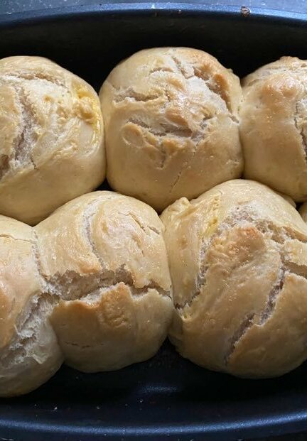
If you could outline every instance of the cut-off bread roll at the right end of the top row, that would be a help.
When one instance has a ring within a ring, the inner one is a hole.
[[[244,175],[307,200],[307,61],[283,57],[244,78]]]

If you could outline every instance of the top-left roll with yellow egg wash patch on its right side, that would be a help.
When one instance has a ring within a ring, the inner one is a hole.
[[[0,213],[36,224],[104,180],[94,89],[50,60],[0,60]]]

